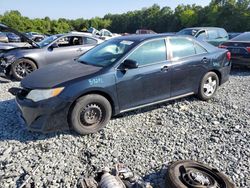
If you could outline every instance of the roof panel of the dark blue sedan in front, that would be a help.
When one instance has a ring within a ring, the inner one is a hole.
[[[123,40],[133,40],[133,41],[144,41],[155,38],[164,38],[168,36],[175,36],[174,34],[142,34],[142,35],[126,35],[121,37],[116,37],[115,39],[123,39]]]

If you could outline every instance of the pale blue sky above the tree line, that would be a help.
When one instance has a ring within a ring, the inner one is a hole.
[[[179,4],[208,5],[210,0],[0,0],[0,14],[18,10],[30,18],[92,18],[107,13],[124,13],[158,4],[174,9]]]

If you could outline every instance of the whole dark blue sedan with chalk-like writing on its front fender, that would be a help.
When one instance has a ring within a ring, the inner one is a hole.
[[[231,68],[228,50],[159,34],[110,39],[77,61],[39,69],[10,90],[29,129],[89,134],[119,113],[193,94],[208,100]]]

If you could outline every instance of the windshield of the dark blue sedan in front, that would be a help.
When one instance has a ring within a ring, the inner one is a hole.
[[[122,58],[135,46],[135,41],[112,39],[100,44],[82,55],[78,61],[81,63],[106,67]]]

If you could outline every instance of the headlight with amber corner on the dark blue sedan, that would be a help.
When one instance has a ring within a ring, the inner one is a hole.
[[[64,87],[55,89],[34,89],[29,92],[26,98],[34,102],[38,102],[59,95],[63,89]]]

